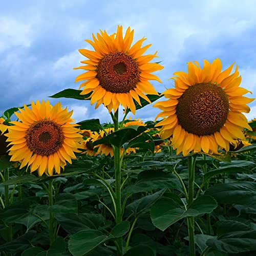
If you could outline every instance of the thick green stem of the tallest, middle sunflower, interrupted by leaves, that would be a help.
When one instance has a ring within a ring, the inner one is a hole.
[[[115,131],[118,130],[118,110],[112,116]],[[115,158],[115,194],[116,194],[116,224],[122,222],[122,204],[121,204],[121,164],[120,164],[120,147],[114,146]],[[122,237],[117,239],[117,250],[120,255],[123,254]]]

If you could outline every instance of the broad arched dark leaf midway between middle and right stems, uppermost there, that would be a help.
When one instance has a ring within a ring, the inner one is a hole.
[[[144,170],[139,173],[137,182],[125,187],[123,193],[134,194],[157,188],[174,188],[183,191],[176,175],[165,173],[162,170]]]

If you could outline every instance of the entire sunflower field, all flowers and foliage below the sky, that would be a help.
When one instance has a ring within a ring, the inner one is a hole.
[[[158,93],[134,30],[86,40],[79,89],[109,123],[35,100],[0,118],[0,255],[256,255],[256,120],[238,66],[187,64]],[[165,98],[165,99],[164,99]],[[155,120],[127,118],[153,103]]]

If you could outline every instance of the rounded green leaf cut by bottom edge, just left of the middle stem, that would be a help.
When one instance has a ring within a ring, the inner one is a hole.
[[[108,240],[108,237],[99,230],[81,230],[70,237],[69,250],[74,256],[82,256],[106,240]]]

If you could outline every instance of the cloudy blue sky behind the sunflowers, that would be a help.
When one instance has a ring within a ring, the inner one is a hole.
[[[111,120],[108,111],[97,110],[90,101],[52,99],[63,89],[78,89],[78,49],[90,48],[99,29],[109,34],[117,25],[135,30],[134,42],[145,36],[152,44],[146,54],[158,51],[164,69],[154,74],[163,83],[152,81],[158,92],[173,87],[168,80],[175,71],[187,71],[187,62],[220,58],[223,69],[234,61],[242,75],[241,87],[256,97],[256,7],[254,1],[87,1],[44,0],[4,1],[0,9],[0,116],[12,107],[49,99],[60,101],[73,118],[81,121]],[[256,117],[256,100],[249,104],[248,119]],[[135,118],[154,120],[159,109],[148,105]],[[132,118],[134,116],[132,115]]]

